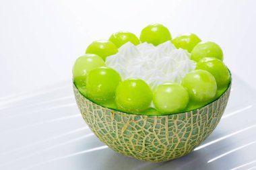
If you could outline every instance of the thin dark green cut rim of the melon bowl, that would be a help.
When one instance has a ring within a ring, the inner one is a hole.
[[[86,99],[88,99],[88,101],[90,101],[90,102],[92,102],[92,103],[94,103],[94,104],[96,104],[96,105],[98,105],[98,106],[100,106],[100,107],[102,107],[102,108],[106,108],[106,109],[108,109],[108,110],[114,110],[115,112],[121,112],[121,113],[123,113],[123,114],[131,114],[131,115],[137,115],[137,116],[170,116],[170,115],[185,114],[185,113],[188,113],[188,112],[194,112],[195,110],[200,110],[201,108],[204,108],[205,106],[210,105],[211,103],[214,103],[215,101],[217,101],[218,99],[220,99],[220,98],[224,95],[224,93],[226,93],[226,92],[228,91],[228,89],[230,89],[231,84],[232,84],[232,74],[231,74],[231,72],[230,72],[229,69],[228,69],[228,72],[229,72],[229,74],[230,74],[230,81],[229,81],[229,83],[228,83],[228,86],[226,87],[226,90],[225,90],[219,97],[216,97],[216,99],[214,99],[214,100],[211,101],[210,103],[206,103],[205,105],[203,105],[203,106],[201,106],[201,107],[199,107],[199,108],[196,108],[196,109],[194,109],[194,110],[189,110],[189,111],[187,111],[187,112],[178,112],[178,113],[174,113],[174,114],[158,114],[158,115],[155,115],[155,114],[150,114],[150,115],[147,115],[147,114],[132,114],[132,113],[128,113],[128,112],[123,112],[123,111],[120,111],[120,110],[116,110],[116,109],[113,109],[113,108],[106,108],[106,107],[104,107],[104,106],[102,106],[102,105],[99,105],[98,103],[95,103],[95,102],[92,101],[91,99],[88,99],[88,97],[86,97],[85,95],[83,95],[83,94],[78,90],[77,85],[75,85],[75,82],[74,82],[73,80],[72,80],[72,81],[73,81],[73,87],[75,87],[75,88],[77,89],[77,91],[79,92],[80,95],[82,95],[83,97],[85,97]]]

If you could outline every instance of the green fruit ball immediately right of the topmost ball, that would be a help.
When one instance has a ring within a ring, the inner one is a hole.
[[[200,38],[198,38],[195,34],[182,34],[172,39],[172,43],[176,48],[183,48],[188,52],[191,52],[193,48],[201,42]]]

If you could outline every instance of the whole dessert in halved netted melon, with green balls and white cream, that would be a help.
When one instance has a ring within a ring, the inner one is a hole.
[[[92,42],[73,66],[73,89],[92,132],[114,151],[168,161],[193,151],[216,128],[231,76],[222,49],[195,34],[176,38],[152,24],[139,38],[117,32]]]

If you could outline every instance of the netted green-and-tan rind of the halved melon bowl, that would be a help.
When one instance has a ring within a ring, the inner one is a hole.
[[[84,120],[102,142],[128,157],[162,162],[187,155],[212,133],[226,108],[231,85],[203,108],[168,116],[117,112],[86,99],[75,85],[73,89]]]

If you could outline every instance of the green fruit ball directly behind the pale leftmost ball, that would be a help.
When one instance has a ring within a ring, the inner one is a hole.
[[[106,60],[107,56],[111,56],[117,52],[118,49],[115,44],[105,40],[94,41],[86,49],[86,54],[97,54],[103,60]]]

